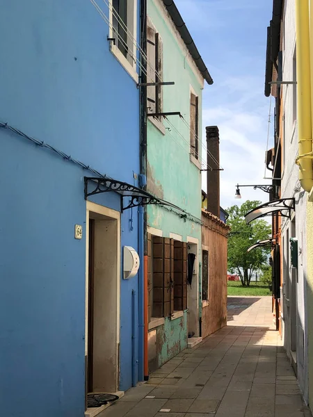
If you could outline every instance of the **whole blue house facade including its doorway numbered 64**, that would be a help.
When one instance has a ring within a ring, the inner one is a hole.
[[[138,40],[133,6],[122,18]],[[136,44],[101,8],[10,0],[0,14],[0,407],[10,417],[81,417],[86,389],[125,391],[143,375],[141,269],[123,279],[122,262],[125,246],[141,254],[141,208],[85,193],[84,177],[140,177]]]

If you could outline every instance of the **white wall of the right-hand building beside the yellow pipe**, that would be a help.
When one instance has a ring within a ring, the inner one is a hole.
[[[296,18],[295,18],[295,1],[285,0],[283,11],[282,27],[282,81],[296,80]],[[298,165],[296,157],[298,156],[298,126],[296,122],[296,94],[294,85],[282,85],[282,114],[284,114],[281,131],[284,140],[282,149],[282,198],[294,197],[296,201],[295,222],[296,238],[298,238],[298,282],[296,284],[296,370],[298,373],[298,382],[300,389],[303,391],[305,400],[307,400],[308,381],[307,381],[307,317],[305,311],[306,304],[306,236],[305,236],[305,219],[306,219],[306,200],[305,193],[300,188],[298,180]],[[290,254],[290,244],[287,241],[291,234],[291,220],[282,218],[282,248],[283,256],[283,282],[282,300],[283,300],[283,329],[284,345],[287,354],[291,358],[291,303],[289,296],[291,292],[291,279],[293,271],[287,265],[288,253]]]

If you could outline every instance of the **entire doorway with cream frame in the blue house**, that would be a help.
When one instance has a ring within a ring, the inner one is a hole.
[[[86,391],[118,391],[120,213],[87,202]]]

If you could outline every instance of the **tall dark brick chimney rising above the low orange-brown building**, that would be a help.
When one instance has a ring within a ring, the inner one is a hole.
[[[218,126],[207,126],[207,150],[214,158],[207,155],[207,211],[220,218],[220,135]],[[209,170],[209,167],[214,171]]]

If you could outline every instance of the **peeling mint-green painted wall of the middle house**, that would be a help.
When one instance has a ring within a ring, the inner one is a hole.
[[[163,86],[163,112],[179,111],[190,124],[190,93],[199,100],[199,152],[201,154],[201,108],[202,79],[195,74],[182,47],[170,28],[171,21],[160,13],[159,1],[147,1],[147,15],[163,41],[163,81],[174,81],[175,85]],[[166,12],[165,12],[166,13]],[[175,28],[174,28],[175,31]],[[179,35],[178,35],[179,36]],[[169,116],[177,131],[170,127],[163,133],[148,118],[147,122],[147,189],[161,199],[183,208],[195,219],[181,218],[165,207],[147,206],[147,225],[163,231],[163,237],[170,233],[179,234],[183,241],[187,236],[198,239],[201,259],[201,174],[199,167],[190,161],[190,131],[177,116]],[[169,127],[166,120],[164,127]],[[165,133],[165,134],[164,134]],[[198,220],[197,220],[198,219]],[[199,268],[200,277],[200,268]],[[158,363],[174,357],[187,347],[188,313],[182,318],[165,319],[157,328]]]

